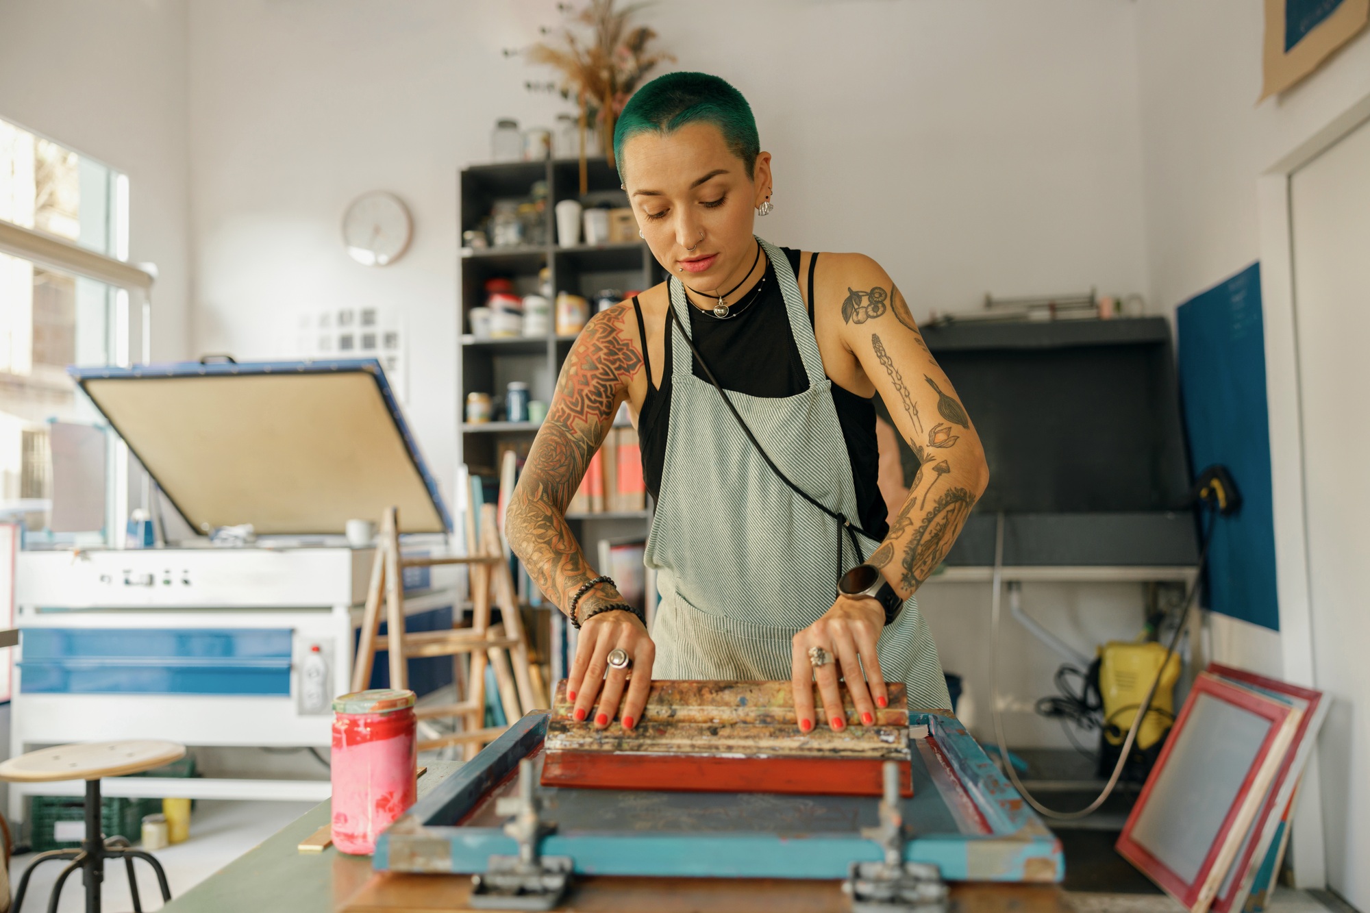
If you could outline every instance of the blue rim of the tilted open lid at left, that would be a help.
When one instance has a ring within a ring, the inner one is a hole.
[[[407,529],[407,532],[452,532],[452,517],[448,513],[447,504],[443,500],[443,495],[437,487],[437,478],[429,472],[427,463],[423,461],[423,455],[419,452],[418,440],[410,430],[408,422],[404,419],[404,411],[400,407],[399,400],[395,398],[395,392],[390,388],[389,381],[385,378],[385,369],[381,362],[374,358],[334,358],[334,359],[312,359],[312,361],[288,361],[288,362],[173,362],[167,365],[134,365],[133,367],[115,367],[115,366],[95,366],[95,367],[68,367],[67,374],[81,387],[81,392],[86,395],[92,404],[100,411],[101,417],[119,437],[127,444],[129,451],[138,459],[140,465],[147,467],[147,461],[142,454],[138,452],[138,446],[136,440],[130,440],[125,435],[125,429],[116,422],[101,406],[100,398],[90,389],[89,384],[92,381],[137,381],[137,380],[164,380],[164,378],[195,378],[195,377],[255,377],[255,376],[299,376],[299,374],[369,374],[375,382],[377,392],[381,396],[381,402],[389,414],[390,421],[395,425],[395,430],[399,433],[400,441],[404,447],[406,456],[411,463],[414,472],[418,474],[419,481],[426,491],[429,500],[432,502],[436,520],[441,529]],[[151,472],[151,470],[149,470]],[[155,476],[153,476],[155,478]],[[171,503],[177,514],[185,520],[186,525],[196,532],[203,532],[200,526],[189,517],[186,510],[177,502],[175,495],[163,487],[159,481],[159,488],[163,496]],[[284,535],[319,535],[327,531],[319,529],[301,529],[301,531],[278,531]],[[341,533],[341,529],[333,531]]]

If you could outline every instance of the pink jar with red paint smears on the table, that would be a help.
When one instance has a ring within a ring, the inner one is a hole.
[[[355,691],[333,702],[333,844],[366,855],[418,798],[414,692]]]

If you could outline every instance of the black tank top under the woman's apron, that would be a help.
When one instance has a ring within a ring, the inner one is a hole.
[[[789,269],[799,277],[799,251],[782,247]],[[817,254],[814,255],[818,256]],[[666,469],[666,435],[671,417],[671,345],[667,337],[666,363],[662,385],[652,385],[652,365],[647,355],[647,328],[643,306],[633,297],[637,328],[643,339],[643,363],[647,367],[647,399],[638,417],[637,435],[643,447],[643,478],[652,498],[659,498],[662,474]],[[743,313],[726,321],[715,319],[697,307],[686,308],[690,317],[690,336],[700,355],[725,389],[748,396],[782,398],[808,389],[804,362],[795,344],[795,333],[785,313],[785,299],[775,281],[775,265],[767,258],[764,287]],[[810,284],[808,322],[814,322],[812,284]],[[671,322],[667,321],[667,329]],[[693,362],[695,377],[708,380]],[[877,485],[880,451],[875,443],[875,406],[873,400],[832,385],[833,406],[847,443],[847,456],[852,465],[852,484],[856,489],[858,517],[852,520],[871,537],[884,539],[889,532],[885,520],[885,500]],[[764,443],[764,441],[762,441]]]

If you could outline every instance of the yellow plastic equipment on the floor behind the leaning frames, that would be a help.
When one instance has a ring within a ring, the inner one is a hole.
[[[1099,696],[1104,705],[1104,739],[1121,746],[1147,690],[1156,680],[1166,648],[1155,642],[1130,643],[1111,640],[1099,647]],[[1147,718],[1137,729],[1136,747],[1145,751],[1164,738],[1174,721],[1175,681],[1180,679],[1180,657],[1170,654],[1166,670],[1151,698]]]

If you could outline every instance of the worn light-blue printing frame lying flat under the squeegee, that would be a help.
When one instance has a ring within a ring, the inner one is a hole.
[[[475,873],[486,871],[490,855],[516,854],[516,843],[503,829],[453,823],[508,783],[522,758],[541,750],[548,718],[547,711],[529,713],[396,820],[377,840],[373,866]],[[904,844],[904,858],[933,864],[943,879],[954,881],[1060,881],[1060,842],[964,727],[937,711],[910,711],[910,724],[926,727],[925,738],[943,762],[940,772],[930,772],[943,801],[948,806],[960,803],[959,813],[973,817],[984,832],[915,835]],[[947,784],[938,781],[943,772]],[[875,799],[866,801],[875,806]],[[845,879],[852,862],[884,858],[881,846],[856,829],[789,833],[567,828],[544,838],[540,850],[571,857],[581,875],[622,876]]]

